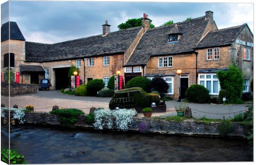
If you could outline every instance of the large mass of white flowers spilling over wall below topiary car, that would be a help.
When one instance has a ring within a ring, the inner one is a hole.
[[[98,130],[103,130],[103,128],[113,129],[116,125],[118,130],[126,131],[133,122],[133,116],[137,112],[133,109],[119,109],[119,110],[109,110],[109,109],[98,109],[94,111],[95,123],[94,127]]]

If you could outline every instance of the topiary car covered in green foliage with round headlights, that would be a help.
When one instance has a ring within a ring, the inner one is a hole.
[[[109,109],[143,108],[164,105],[159,94],[146,93],[141,87],[118,90],[109,102]]]

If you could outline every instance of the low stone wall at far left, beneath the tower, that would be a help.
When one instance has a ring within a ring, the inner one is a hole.
[[[19,84],[19,83],[11,83],[10,86],[8,83],[1,83],[1,94],[9,95],[19,95],[19,94],[29,94],[29,93],[37,93],[38,92],[38,84]]]

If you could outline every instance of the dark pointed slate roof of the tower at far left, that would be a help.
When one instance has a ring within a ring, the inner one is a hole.
[[[1,42],[9,39],[9,22],[1,26]],[[10,21],[10,39],[25,40],[16,22]]]

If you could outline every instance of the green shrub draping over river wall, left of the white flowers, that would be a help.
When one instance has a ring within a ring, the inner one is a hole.
[[[60,116],[60,122],[64,126],[70,126],[77,122],[77,117],[83,115],[83,111],[75,108],[71,109],[57,109],[50,111],[51,114]]]

